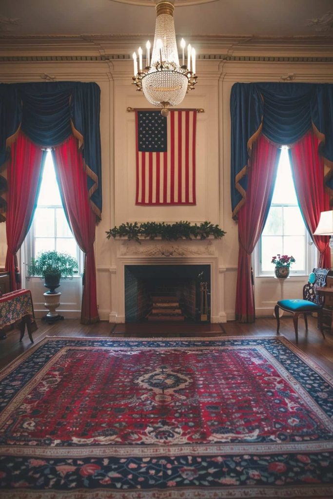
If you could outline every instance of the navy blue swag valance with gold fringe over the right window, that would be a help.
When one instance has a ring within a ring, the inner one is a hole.
[[[333,193],[333,84],[235,83],[230,112],[234,219],[245,203],[248,160],[261,133],[276,144],[289,145],[313,128],[321,141],[319,153],[331,168],[325,184]]]

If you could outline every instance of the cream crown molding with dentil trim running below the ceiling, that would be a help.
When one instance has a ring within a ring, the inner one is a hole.
[[[187,33],[188,34],[188,33]],[[87,57],[85,60],[128,59],[147,34],[15,35],[0,34],[0,56]],[[186,37],[186,33],[180,36]],[[191,34],[199,58],[228,57],[333,57],[332,35],[253,36]],[[89,59],[91,58],[91,59]],[[94,59],[95,58],[95,59]],[[75,60],[75,59],[67,59]],[[78,59],[82,60],[82,59]],[[323,60],[324,62],[324,60]]]

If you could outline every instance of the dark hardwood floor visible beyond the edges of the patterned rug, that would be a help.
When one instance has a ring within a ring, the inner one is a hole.
[[[317,329],[317,320],[309,317],[309,330],[305,331],[304,321],[300,319],[298,347],[315,360],[326,371],[333,374],[333,336],[326,333],[323,338]],[[92,325],[80,324],[78,319],[65,319],[52,325],[37,319],[38,329],[32,334],[34,344],[45,336],[100,336],[100,337],[217,337],[217,336],[275,336],[276,320],[273,317],[258,318],[253,324],[240,324],[230,321],[226,324],[191,324],[191,323],[138,323],[110,324],[98,322]],[[292,316],[281,318],[280,333],[295,344],[295,333]],[[32,346],[25,332],[19,342],[19,331],[7,332],[7,338],[0,341],[0,369],[14,360],[18,355]]]

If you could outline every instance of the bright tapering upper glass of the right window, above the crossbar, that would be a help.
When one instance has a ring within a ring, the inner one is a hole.
[[[297,196],[287,148],[283,148],[281,151],[272,203],[297,205]]]

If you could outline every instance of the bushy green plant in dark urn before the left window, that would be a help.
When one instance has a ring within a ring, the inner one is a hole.
[[[28,266],[28,277],[38,275],[45,280],[47,293],[55,293],[62,279],[72,278],[74,270],[78,270],[77,260],[68,253],[58,251],[42,251],[36,258],[31,258]]]

